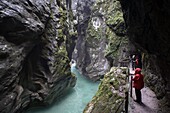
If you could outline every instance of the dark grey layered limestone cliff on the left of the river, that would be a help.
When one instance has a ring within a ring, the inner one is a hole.
[[[52,0],[0,1],[0,112],[50,104],[73,87],[64,5]]]

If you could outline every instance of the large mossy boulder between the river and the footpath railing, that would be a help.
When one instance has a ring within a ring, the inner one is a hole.
[[[127,68],[112,67],[83,113],[122,113],[127,98]]]

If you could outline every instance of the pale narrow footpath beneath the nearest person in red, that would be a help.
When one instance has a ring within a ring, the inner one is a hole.
[[[134,74],[134,71],[130,67],[130,74]],[[148,87],[144,87],[141,90],[142,103],[134,101],[136,99],[135,89],[132,89],[132,97],[129,98],[129,113],[162,113],[159,109],[158,102],[155,93]]]

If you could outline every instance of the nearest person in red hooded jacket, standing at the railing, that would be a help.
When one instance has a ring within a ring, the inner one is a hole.
[[[133,87],[135,88],[135,94],[136,94],[136,102],[141,103],[141,89],[144,87],[144,81],[143,81],[143,75],[141,74],[141,69],[136,68],[135,69],[135,77],[133,80]]]

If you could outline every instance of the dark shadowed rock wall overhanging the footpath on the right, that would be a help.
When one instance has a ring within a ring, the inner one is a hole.
[[[129,39],[143,51],[146,83],[170,104],[170,2],[120,0]]]

